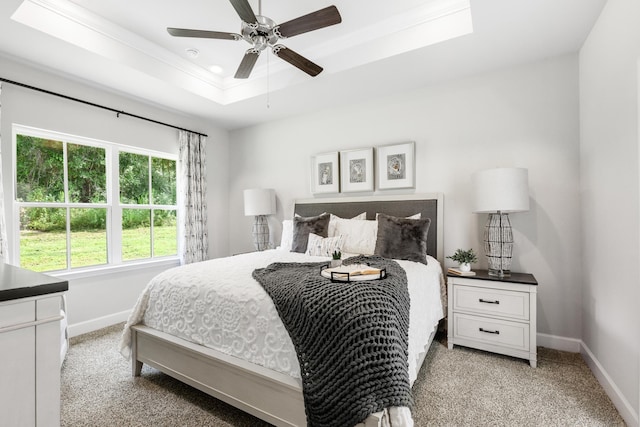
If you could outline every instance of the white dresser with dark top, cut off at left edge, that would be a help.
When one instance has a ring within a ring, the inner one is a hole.
[[[2,425],[60,425],[60,307],[67,290],[64,280],[0,263]]]

